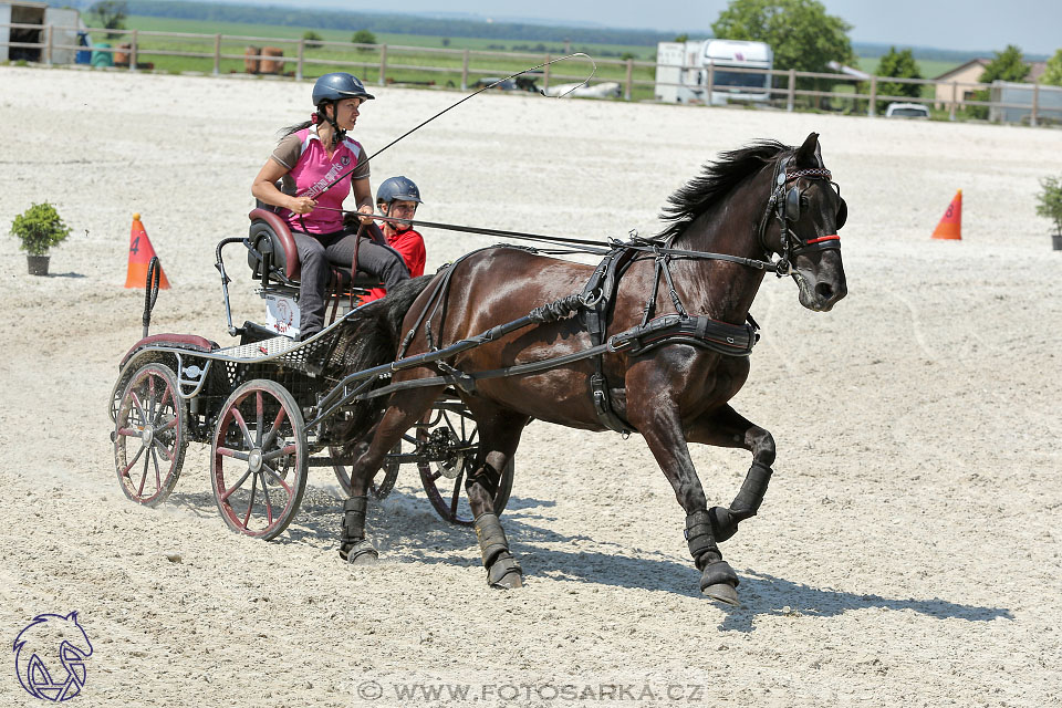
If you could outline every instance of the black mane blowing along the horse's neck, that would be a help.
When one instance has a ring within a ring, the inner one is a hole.
[[[670,221],[656,239],[670,240],[686,230],[689,223],[725,199],[747,177],[793,148],[778,140],[757,140],[740,149],[719,155],[719,159],[706,164],[700,175],[675,190],[667,198],[660,218]]]

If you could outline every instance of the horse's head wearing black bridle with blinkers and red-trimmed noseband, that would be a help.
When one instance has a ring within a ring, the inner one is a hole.
[[[837,235],[848,209],[822,163],[818,133],[775,164],[771,189],[761,240],[779,254],[779,274],[796,281],[800,304],[827,312],[848,292]]]

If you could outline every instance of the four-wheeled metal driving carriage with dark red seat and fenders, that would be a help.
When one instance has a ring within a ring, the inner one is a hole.
[[[239,533],[273,539],[299,512],[309,468],[330,467],[350,496],[353,451],[344,451],[345,425],[356,383],[344,381],[356,341],[343,323],[357,299],[378,282],[351,268],[333,267],[331,321],[299,341],[299,256],[275,214],[250,212],[244,237],[216,249],[228,332],[238,344],[220,346],[190,334],[148,335],[158,293],[157,262],[148,270],[144,336],[118,364],[111,395],[111,434],[122,491],[155,507],[174,491],[188,442],[210,446],[210,483],[221,518]],[[250,279],[266,301],[264,323],[233,326],[222,252],[240,244]],[[449,522],[470,525],[464,497],[467,468],[479,441],[467,408],[448,389],[393,447],[371,491],[394,488],[402,465],[415,465],[431,506]],[[500,513],[512,485],[508,465],[494,498]]]

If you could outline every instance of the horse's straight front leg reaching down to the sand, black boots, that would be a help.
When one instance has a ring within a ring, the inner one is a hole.
[[[678,503],[686,511],[686,543],[700,571],[700,591],[711,597],[737,605],[738,575],[722,560],[712,535],[711,517],[705,490],[697,478],[683,431],[681,418],[673,399],[662,387],[646,388],[656,395],[636,396],[638,404],[627,407],[627,418],[642,433],[664,476],[671,483]],[[628,387],[629,396],[629,387]]]

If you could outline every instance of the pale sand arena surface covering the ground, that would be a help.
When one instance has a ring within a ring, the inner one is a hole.
[[[143,292],[122,288],[132,214],[174,285],[153,332],[230,341],[214,248],[246,233],[251,178],[309,92],[0,67],[0,223],[46,199],[74,228],[51,278],[0,238],[0,638],[80,611],[95,652],[79,705],[386,706],[417,681],[470,684],[458,705],[615,700],[554,698],[563,684],[633,686],[636,705],[1062,701],[1062,253],[1034,215],[1062,132],[485,95],[374,162],[374,185],[419,184],[421,218],[603,239],[658,228],[720,150],[822,134],[850,293],[815,314],[771,278],[752,309],[763,339],[733,405],[779,454],[760,516],[722,546],[745,603],[728,610],[700,596],[637,436],[530,426],[502,517],[527,586],[509,593],[412,468],[371,509],[367,570],[335,554],[325,469],[271,543],[226,529],[201,446],[168,503],[125,499],[107,397],[140,335]],[[376,93],[354,132],[369,152],[459,97]],[[929,240],[958,188],[964,240]],[[429,269],[497,241],[426,237]],[[259,319],[230,273],[238,321]],[[728,502],[748,455],[693,456],[709,503]],[[0,704],[37,705],[7,666]]]

